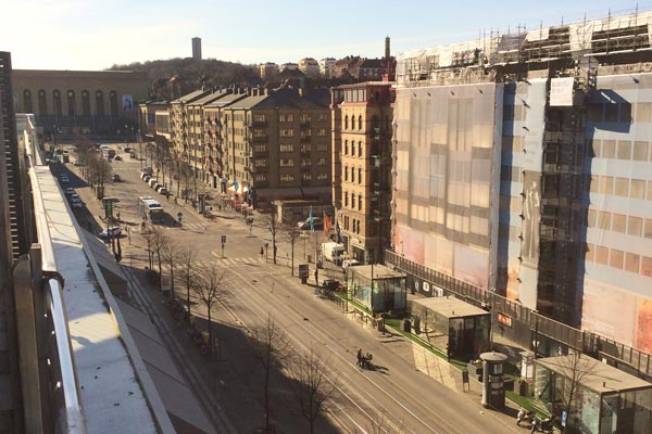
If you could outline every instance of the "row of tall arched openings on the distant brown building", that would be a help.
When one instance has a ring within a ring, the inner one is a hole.
[[[63,99],[61,95],[61,91],[59,89],[54,89],[52,91],[52,113],[55,116],[63,116]],[[77,98],[74,90],[68,90],[66,93],[66,102],[67,102],[67,114],[68,116],[90,116],[90,93],[88,90],[82,91],[82,101],[80,108],[82,112],[77,111]],[[95,94],[96,100],[96,115],[104,116],[104,92],[101,90],[97,90]],[[133,110],[134,107],[130,105],[133,102],[129,100],[125,100],[124,110]],[[37,104],[38,111],[34,110],[34,101],[32,95],[32,90],[25,89],[23,90],[23,108],[25,113],[36,113],[38,116],[47,116],[48,114],[48,94],[43,89],[38,91],[37,95]],[[129,104],[127,106],[127,104]],[[118,105],[117,105],[117,92],[112,90],[109,92],[109,107],[111,110],[111,116],[115,117],[118,115]]]

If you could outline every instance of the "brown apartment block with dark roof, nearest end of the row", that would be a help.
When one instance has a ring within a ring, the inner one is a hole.
[[[234,197],[330,202],[328,90],[256,89],[222,108],[223,176]]]

